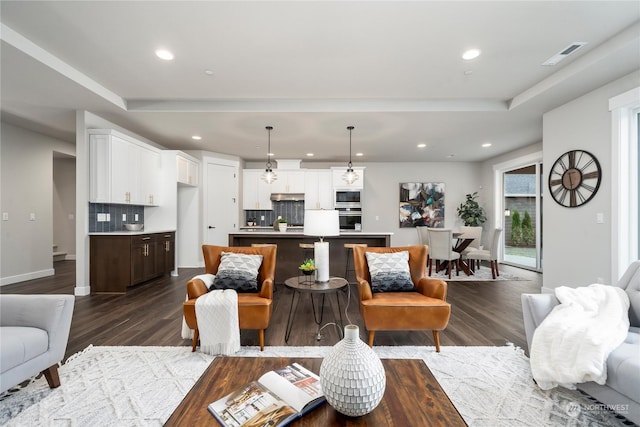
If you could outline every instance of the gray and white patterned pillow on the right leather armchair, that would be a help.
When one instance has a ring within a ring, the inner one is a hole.
[[[366,252],[372,292],[415,291],[409,271],[409,252]]]

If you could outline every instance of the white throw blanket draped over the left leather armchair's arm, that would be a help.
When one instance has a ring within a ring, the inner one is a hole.
[[[202,274],[194,279],[202,280],[210,288],[215,278]],[[196,299],[196,319],[200,332],[200,351],[211,355],[230,355],[240,350],[238,323],[238,294],[231,289],[213,290]],[[182,338],[193,338],[193,331],[182,322]]]

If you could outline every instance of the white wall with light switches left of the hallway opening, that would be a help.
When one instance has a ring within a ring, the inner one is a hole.
[[[53,152],[73,144],[1,123],[0,284],[53,275]],[[30,214],[35,221],[30,221]]]

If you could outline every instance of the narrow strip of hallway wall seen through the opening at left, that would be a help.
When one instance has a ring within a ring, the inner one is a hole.
[[[53,159],[53,243],[65,259],[76,254],[76,159]]]

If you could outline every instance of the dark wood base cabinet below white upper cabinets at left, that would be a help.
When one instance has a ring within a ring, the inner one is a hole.
[[[90,237],[92,293],[124,293],[127,287],[175,270],[175,232]]]

